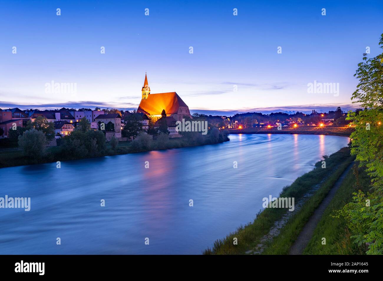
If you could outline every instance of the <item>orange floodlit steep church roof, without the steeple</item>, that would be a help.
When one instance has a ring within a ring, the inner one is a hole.
[[[165,109],[166,114],[177,114],[180,106],[187,107],[176,92],[149,94],[147,99],[141,100],[137,112],[160,115],[162,109]]]

